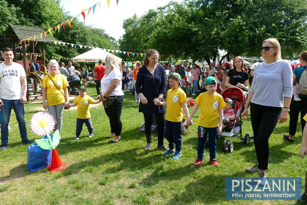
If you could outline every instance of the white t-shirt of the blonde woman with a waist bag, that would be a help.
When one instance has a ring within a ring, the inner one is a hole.
[[[100,81],[101,84],[101,93],[104,94],[107,92],[107,89],[111,85],[111,80],[118,79],[119,84],[117,87],[113,90],[113,92],[109,96],[116,96],[116,95],[124,95],[122,92],[122,73],[118,68],[114,68],[109,75],[104,75],[103,78]]]

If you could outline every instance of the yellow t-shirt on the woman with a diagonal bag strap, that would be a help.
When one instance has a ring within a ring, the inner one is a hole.
[[[62,74],[56,74],[52,76],[51,73],[49,74],[52,81],[56,84],[56,86],[60,89],[60,91],[65,95],[63,88],[68,87],[68,82],[66,77]],[[58,105],[62,104],[66,101],[64,95],[54,86],[48,76],[43,78],[41,83],[41,87],[47,88],[46,93],[46,100],[47,105]]]

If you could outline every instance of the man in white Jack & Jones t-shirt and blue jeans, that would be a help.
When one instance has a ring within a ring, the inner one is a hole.
[[[0,106],[2,114],[0,149],[6,149],[9,141],[8,125],[12,107],[18,121],[21,142],[24,144],[32,144],[32,142],[28,140],[24,116],[24,103],[28,89],[25,70],[22,65],[13,62],[12,49],[2,49],[2,58],[4,58],[4,63],[0,64]]]

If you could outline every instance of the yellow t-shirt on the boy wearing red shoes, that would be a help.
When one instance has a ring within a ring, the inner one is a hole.
[[[219,109],[226,106],[223,97],[216,92],[214,95],[205,92],[201,93],[195,102],[200,106],[200,114],[196,124],[205,128],[218,127]]]

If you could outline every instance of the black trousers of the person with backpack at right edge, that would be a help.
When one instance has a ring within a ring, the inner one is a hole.
[[[302,133],[306,124],[306,121],[303,119],[303,117],[307,113],[307,97],[301,97],[301,101],[294,101],[293,97],[291,99],[290,104],[290,122],[289,122],[289,134],[295,135],[296,128],[297,128],[297,121],[298,121],[298,115],[301,112],[301,126],[302,126]]]

